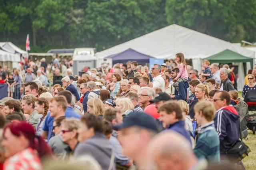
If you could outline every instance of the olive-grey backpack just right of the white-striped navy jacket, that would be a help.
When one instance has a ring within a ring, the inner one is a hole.
[[[240,117],[240,132],[242,134],[241,138],[246,138],[248,136],[247,132],[247,119],[248,118],[248,105],[242,100],[238,99],[240,102],[238,102],[236,105],[234,105],[234,108],[236,109],[239,117]]]

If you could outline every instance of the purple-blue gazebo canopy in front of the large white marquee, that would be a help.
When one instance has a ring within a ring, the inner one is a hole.
[[[112,58],[112,63],[126,63],[127,61],[137,61],[138,64],[145,64],[149,63],[150,58],[155,58],[150,55],[146,55],[143,53],[140,53],[138,51],[135,51],[132,48],[128,48],[125,51],[122,51],[120,53],[109,55],[106,58]]]

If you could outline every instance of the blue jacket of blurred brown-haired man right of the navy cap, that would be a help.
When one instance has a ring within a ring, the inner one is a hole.
[[[190,139],[190,134],[189,134],[188,130],[185,129],[185,121],[177,121],[177,122],[169,125],[169,127],[166,128],[166,130],[174,130],[175,132],[178,132],[179,134],[184,136],[186,139],[188,139],[188,141],[192,145],[192,141]]]

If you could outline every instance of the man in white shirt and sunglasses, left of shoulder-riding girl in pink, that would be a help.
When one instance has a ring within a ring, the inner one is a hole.
[[[164,92],[164,79],[161,76],[161,66],[159,64],[154,64],[152,69],[152,75],[153,75],[153,87],[160,87],[162,92]]]

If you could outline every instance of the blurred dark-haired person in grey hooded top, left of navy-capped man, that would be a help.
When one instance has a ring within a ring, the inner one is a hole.
[[[102,170],[115,170],[114,151],[103,134],[102,118],[93,114],[84,115],[78,128],[78,141],[74,156],[90,155],[95,158]]]

